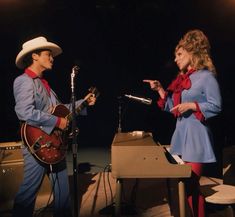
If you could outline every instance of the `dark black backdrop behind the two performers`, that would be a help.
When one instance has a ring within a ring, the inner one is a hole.
[[[209,37],[223,96],[223,112],[210,120],[217,147],[234,142],[235,2],[232,0],[0,0],[0,142],[15,141],[18,120],[12,84],[21,72],[15,57],[21,44],[36,36],[58,43],[63,54],[46,77],[63,102],[69,102],[70,73],[80,66],[77,98],[90,86],[101,95],[78,120],[79,145],[110,146],[122,107],[122,130],[151,131],[169,144],[174,119],[151,106],[131,102],[124,94],[157,96],[143,79],[174,78],[174,48],[189,29]]]

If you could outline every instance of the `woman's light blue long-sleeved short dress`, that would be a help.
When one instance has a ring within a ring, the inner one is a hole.
[[[197,102],[205,118],[216,116],[221,111],[221,94],[218,82],[212,72],[199,70],[190,75],[191,88],[182,91],[181,103]],[[168,96],[165,111],[173,107],[173,98]],[[181,155],[188,162],[212,163],[216,161],[213,138],[206,122],[188,111],[177,118],[171,139],[171,154]]]

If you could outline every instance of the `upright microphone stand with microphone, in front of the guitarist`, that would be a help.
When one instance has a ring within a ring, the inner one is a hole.
[[[77,74],[78,67],[74,66],[71,73],[71,101],[72,101],[72,152],[73,152],[73,183],[74,183],[74,217],[78,217],[78,185],[77,185],[77,124],[76,124],[76,96],[74,79]]]

